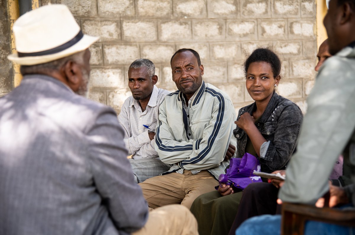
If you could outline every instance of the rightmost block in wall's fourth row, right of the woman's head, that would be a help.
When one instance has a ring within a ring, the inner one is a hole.
[[[316,58],[290,60],[291,77],[313,78],[315,66]]]

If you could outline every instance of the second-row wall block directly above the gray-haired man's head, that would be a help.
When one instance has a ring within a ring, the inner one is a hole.
[[[157,23],[155,21],[122,21],[122,38],[125,41],[156,41]]]

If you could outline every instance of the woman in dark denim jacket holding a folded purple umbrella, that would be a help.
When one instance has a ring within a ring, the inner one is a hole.
[[[281,69],[274,52],[256,49],[245,61],[244,69],[246,88],[255,102],[241,108],[235,121],[237,157],[245,152],[256,156],[263,172],[285,169],[295,150],[302,112],[294,102],[274,91]],[[242,192],[222,186],[197,197],[191,206],[201,235],[224,235],[231,228]]]

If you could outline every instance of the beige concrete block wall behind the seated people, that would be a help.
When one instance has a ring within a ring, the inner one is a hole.
[[[137,58],[156,66],[158,86],[175,91],[170,57],[182,48],[199,52],[203,79],[225,90],[236,111],[252,102],[242,63],[258,46],[282,62],[278,93],[297,102],[314,81],[316,6],[313,0],[42,0],[66,4],[84,33],[100,36],[91,46],[89,98],[116,111],[126,97],[127,70]]]

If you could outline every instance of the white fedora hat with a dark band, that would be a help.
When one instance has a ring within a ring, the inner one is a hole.
[[[98,37],[84,35],[65,5],[42,6],[13,24],[17,53],[7,58],[20,65],[38,65],[87,49]]]

